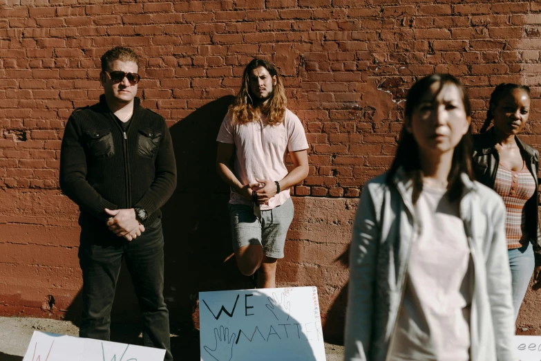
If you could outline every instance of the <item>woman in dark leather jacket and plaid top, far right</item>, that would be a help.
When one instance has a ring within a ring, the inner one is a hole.
[[[506,239],[515,319],[534,264],[537,266],[533,289],[541,287],[539,153],[517,136],[528,122],[530,101],[527,86],[511,83],[496,86],[480,134],[473,137],[473,169],[477,180],[500,194],[506,205]],[[493,127],[486,131],[491,122]]]

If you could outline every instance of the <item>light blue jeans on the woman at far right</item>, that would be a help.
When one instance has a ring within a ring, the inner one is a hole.
[[[509,250],[509,266],[511,266],[511,278],[513,280],[513,307],[515,308],[515,320],[526,295],[526,290],[533,275],[535,260],[533,259],[533,247],[528,242],[526,245]]]

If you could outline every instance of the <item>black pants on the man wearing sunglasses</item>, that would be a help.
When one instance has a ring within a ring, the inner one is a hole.
[[[109,340],[111,307],[122,257],[126,259],[141,310],[144,346],[165,349],[164,360],[173,360],[169,311],[163,297],[164,237],[160,219],[131,242],[106,228],[82,228],[79,264],[83,271],[83,313],[79,336]]]

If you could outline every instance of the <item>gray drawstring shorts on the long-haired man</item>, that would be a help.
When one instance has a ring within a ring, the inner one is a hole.
[[[285,237],[293,221],[293,201],[288,198],[283,205],[261,211],[258,219],[250,205],[229,204],[233,249],[251,244],[263,247],[263,254],[272,258],[284,257]]]

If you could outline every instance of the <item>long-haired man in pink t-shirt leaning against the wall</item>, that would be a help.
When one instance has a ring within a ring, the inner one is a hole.
[[[254,286],[276,287],[276,261],[284,257],[293,220],[290,188],[308,175],[303,124],[286,108],[283,82],[273,64],[254,59],[218,133],[218,174],[231,186],[229,213],[238,268]],[[285,167],[287,154],[294,167]],[[233,164],[231,164],[233,163]]]

